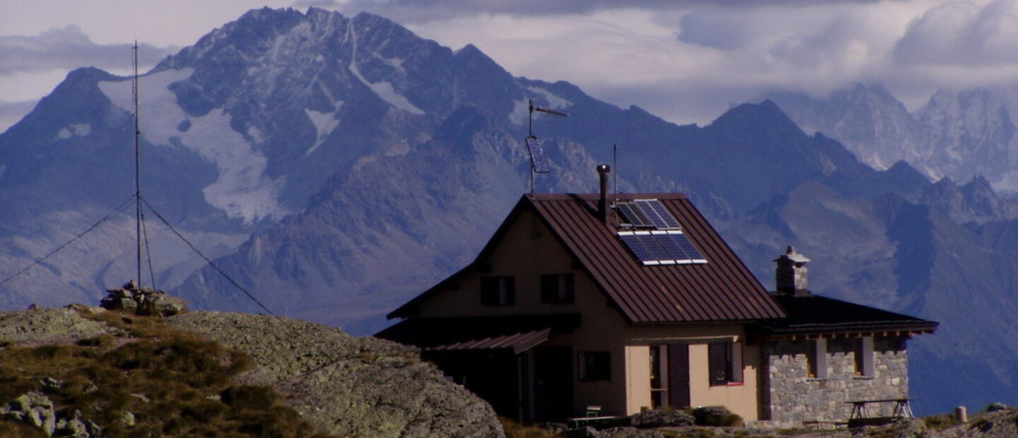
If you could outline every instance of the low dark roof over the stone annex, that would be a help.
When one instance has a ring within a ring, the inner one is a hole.
[[[753,331],[769,335],[878,331],[911,334],[932,333],[939,325],[935,321],[818,295],[776,294],[774,298],[788,317],[758,321],[753,324]]]

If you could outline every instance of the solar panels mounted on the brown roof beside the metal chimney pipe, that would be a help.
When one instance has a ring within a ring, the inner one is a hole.
[[[632,229],[620,231],[619,238],[644,265],[706,263],[661,201],[638,199],[615,208]]]

